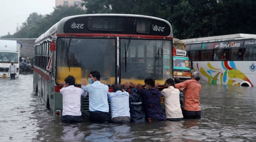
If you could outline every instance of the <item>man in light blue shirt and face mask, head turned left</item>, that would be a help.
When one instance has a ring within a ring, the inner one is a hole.
[[[107,123],[108,115],[108,86],[100,82],[98,71],[90,72],[88,78],[90,84],[86,84],[86,78],[81,79],[82,90],[89,93],[89,120],[97,123]]]

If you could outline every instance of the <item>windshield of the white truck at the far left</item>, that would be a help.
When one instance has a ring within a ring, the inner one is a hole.
[[[18,52],[0,52],[0,63],[10,63],[12,60],[18,64]]]

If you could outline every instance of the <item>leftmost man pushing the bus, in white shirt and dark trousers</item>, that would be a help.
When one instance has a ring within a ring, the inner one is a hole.
[[[64,123],[82,122],[81,96],[86,97],[87,92],[75,87],[75,82],[73,76],[68,76],[64,82],[59,83],[62,86],[60,93],[63,99],[62,122]]]

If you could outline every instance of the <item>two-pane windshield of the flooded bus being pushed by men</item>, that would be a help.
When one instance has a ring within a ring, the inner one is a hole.
[[[170,56],[171,46],[171,40],[121,39],[121,82],[144,83],[145,78],[152,77],[164,84],[170,78],[170,60],[163,56]],[[97,70],[102,83],[116,84],[116,38],[58,38],[56,52],[57,82],[72,75],[80,84],[80,78],[88,78]]]

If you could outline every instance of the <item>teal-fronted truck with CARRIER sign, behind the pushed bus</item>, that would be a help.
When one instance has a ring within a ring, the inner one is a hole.
[[[191,79],[190,60],[185,50],[173,49],[173,76],[180,81]]]

